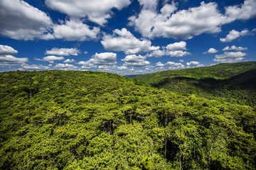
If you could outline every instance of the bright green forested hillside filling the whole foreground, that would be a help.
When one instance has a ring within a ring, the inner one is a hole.
[[[1,72],[0,86],[0,169],[255,169],[250,106],[104,72]]]

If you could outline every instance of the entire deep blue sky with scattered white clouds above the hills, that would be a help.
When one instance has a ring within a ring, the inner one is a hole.
[[[0,72],[256,61],[256,0],[1,0]]]

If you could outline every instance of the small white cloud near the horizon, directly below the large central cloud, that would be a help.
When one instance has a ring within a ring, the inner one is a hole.
[[[142,55],[127,55],[122,61],[124,61],[124,66],[130,67],[144,67],[150,64]]]

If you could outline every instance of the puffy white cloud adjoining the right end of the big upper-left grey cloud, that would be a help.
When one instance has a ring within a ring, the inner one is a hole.
[[[43,35],[43,40],[64,39],[68,41],[85,41],[96,39],[97,34],[100,33],[100,28],[93,27],[82,23],[80,20],[65,21],[60,25],[53,26],[53,33]]]

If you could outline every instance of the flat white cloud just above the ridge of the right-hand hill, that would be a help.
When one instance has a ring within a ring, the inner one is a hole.
[[[245,55],[244,52],[224,52],[222,55],[215,55],[214,62],[240,62],[244,60]]]

